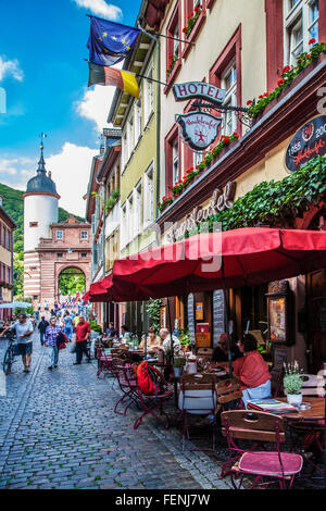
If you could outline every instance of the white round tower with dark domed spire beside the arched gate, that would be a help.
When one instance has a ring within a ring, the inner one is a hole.
[[[58,222],[59,199],[55,184],[47,175],[43,146],[40,146],[37,175],[27,183],[24,197],[24,295],[40,301],[40,238],[50,237],[50,225]]]

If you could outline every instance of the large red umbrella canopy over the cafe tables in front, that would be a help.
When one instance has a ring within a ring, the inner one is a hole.
[[[115,261],[113,286],[152,298],[251,286],[326,267],[326,232],[247,227],[192,236]],[[131,288],[133,291],[133,288]],[[145,298],[143,298],[145,299]]]

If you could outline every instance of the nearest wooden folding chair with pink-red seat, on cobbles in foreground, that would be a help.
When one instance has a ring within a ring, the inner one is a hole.
[[[240,489],[246,475],[254,477],[251,489],[267,488],[272,483],[278,483],[280,489],[291,488],[294,476],[302,469],[303,459],[293,452],[280,452],[280,444],[285,441],[284,417],[248,410],[223,412],[222,434],[227,438],[229,458],[221,477],[230,474],[234,488]],[[255,451],[255,446],[243,450],[237,446],[238,440],[275,443],[276,450]]]

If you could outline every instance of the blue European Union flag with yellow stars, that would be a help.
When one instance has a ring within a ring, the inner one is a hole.
[[[124,60],[136,43],[139,29],[120,23],[90,17],[90,36],[87,42],[89,60],[99,65],[113,65]]]

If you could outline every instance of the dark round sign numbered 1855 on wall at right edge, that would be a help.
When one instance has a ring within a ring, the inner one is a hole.
[[[326,154],[326,115],[318,115],[296,133],[287,149],[286,166],[296,172],[323,154]]]

